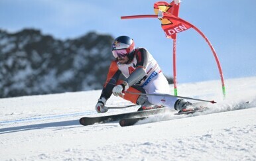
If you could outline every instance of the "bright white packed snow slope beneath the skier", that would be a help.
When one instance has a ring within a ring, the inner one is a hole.
[[[178,95],[217,101],[210,111],[164,115],[131,127],[84,127],[101,91],[0,99],[0,160],[256,160],[256,77],[178,85]],[[172,85],[171,85],[172,89]],[[247,103],[249,101],[249,103]],[[112,96],[108,106],[128,105]],[[158,122],[157,122],[158,121]]]

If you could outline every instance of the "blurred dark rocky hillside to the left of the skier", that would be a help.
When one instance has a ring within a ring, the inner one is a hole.
[[[0,30],[0,97],[100,89],[112,36],[89,32],[58,40],[40,30]]]

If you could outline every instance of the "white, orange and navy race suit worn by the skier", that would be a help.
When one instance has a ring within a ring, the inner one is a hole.
[[[143,70],[142,70],[143,69]],[[141,72],[143,71],[143,72]],[[121,79],[121,76],[124,79]],[[168,81],[162,74],[159,64],[145,48],[136,48],[133,58],[127,64],[120,64],[118,60],[111,62],[107,80],[100,97],[109,99],[115,85],[125,80],[129,84],[127,91],[137,93],[169,93]],[[139,95],[125,93],[124,99],[137,103]],[[149,102],[155,105],[173,107],[176,98],[162,96],[148,96]]]

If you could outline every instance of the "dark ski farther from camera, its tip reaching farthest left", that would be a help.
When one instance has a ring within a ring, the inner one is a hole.
[[[131,113],[121,113],[117,115],[107,115],[102,117],[82,117],[80,119],[80,124],[87,126],[87,125],[94,125],[95,123],[107,123],[111,121],[119,121],[123,118],[131,118],[131,117],[145,117],[149,115],[155,115],[159,113],[166,113],[170,111],[168,107],[162,107],[159,109],[151,109],[147,111],[135,111]]]

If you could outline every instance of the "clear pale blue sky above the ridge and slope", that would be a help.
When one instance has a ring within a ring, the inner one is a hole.
[[[127,15],[153,15],[153,0],[1,0],[0,28],[17,32],[35,28],[66,40],[87,32],[127,35],[145,47],[167,76],[173,76],[172,40],[158,19],[121,20]],[[256,1],[183,0],[179,17],[208,37],[217,52],[224,80],[256,76]],[[214,55],[206,41],[190,28],[177,36],[178,83],[220,80]],[[102,60],[103,61],[103,60]],[[221,81],[220,81],[221,82]]]

